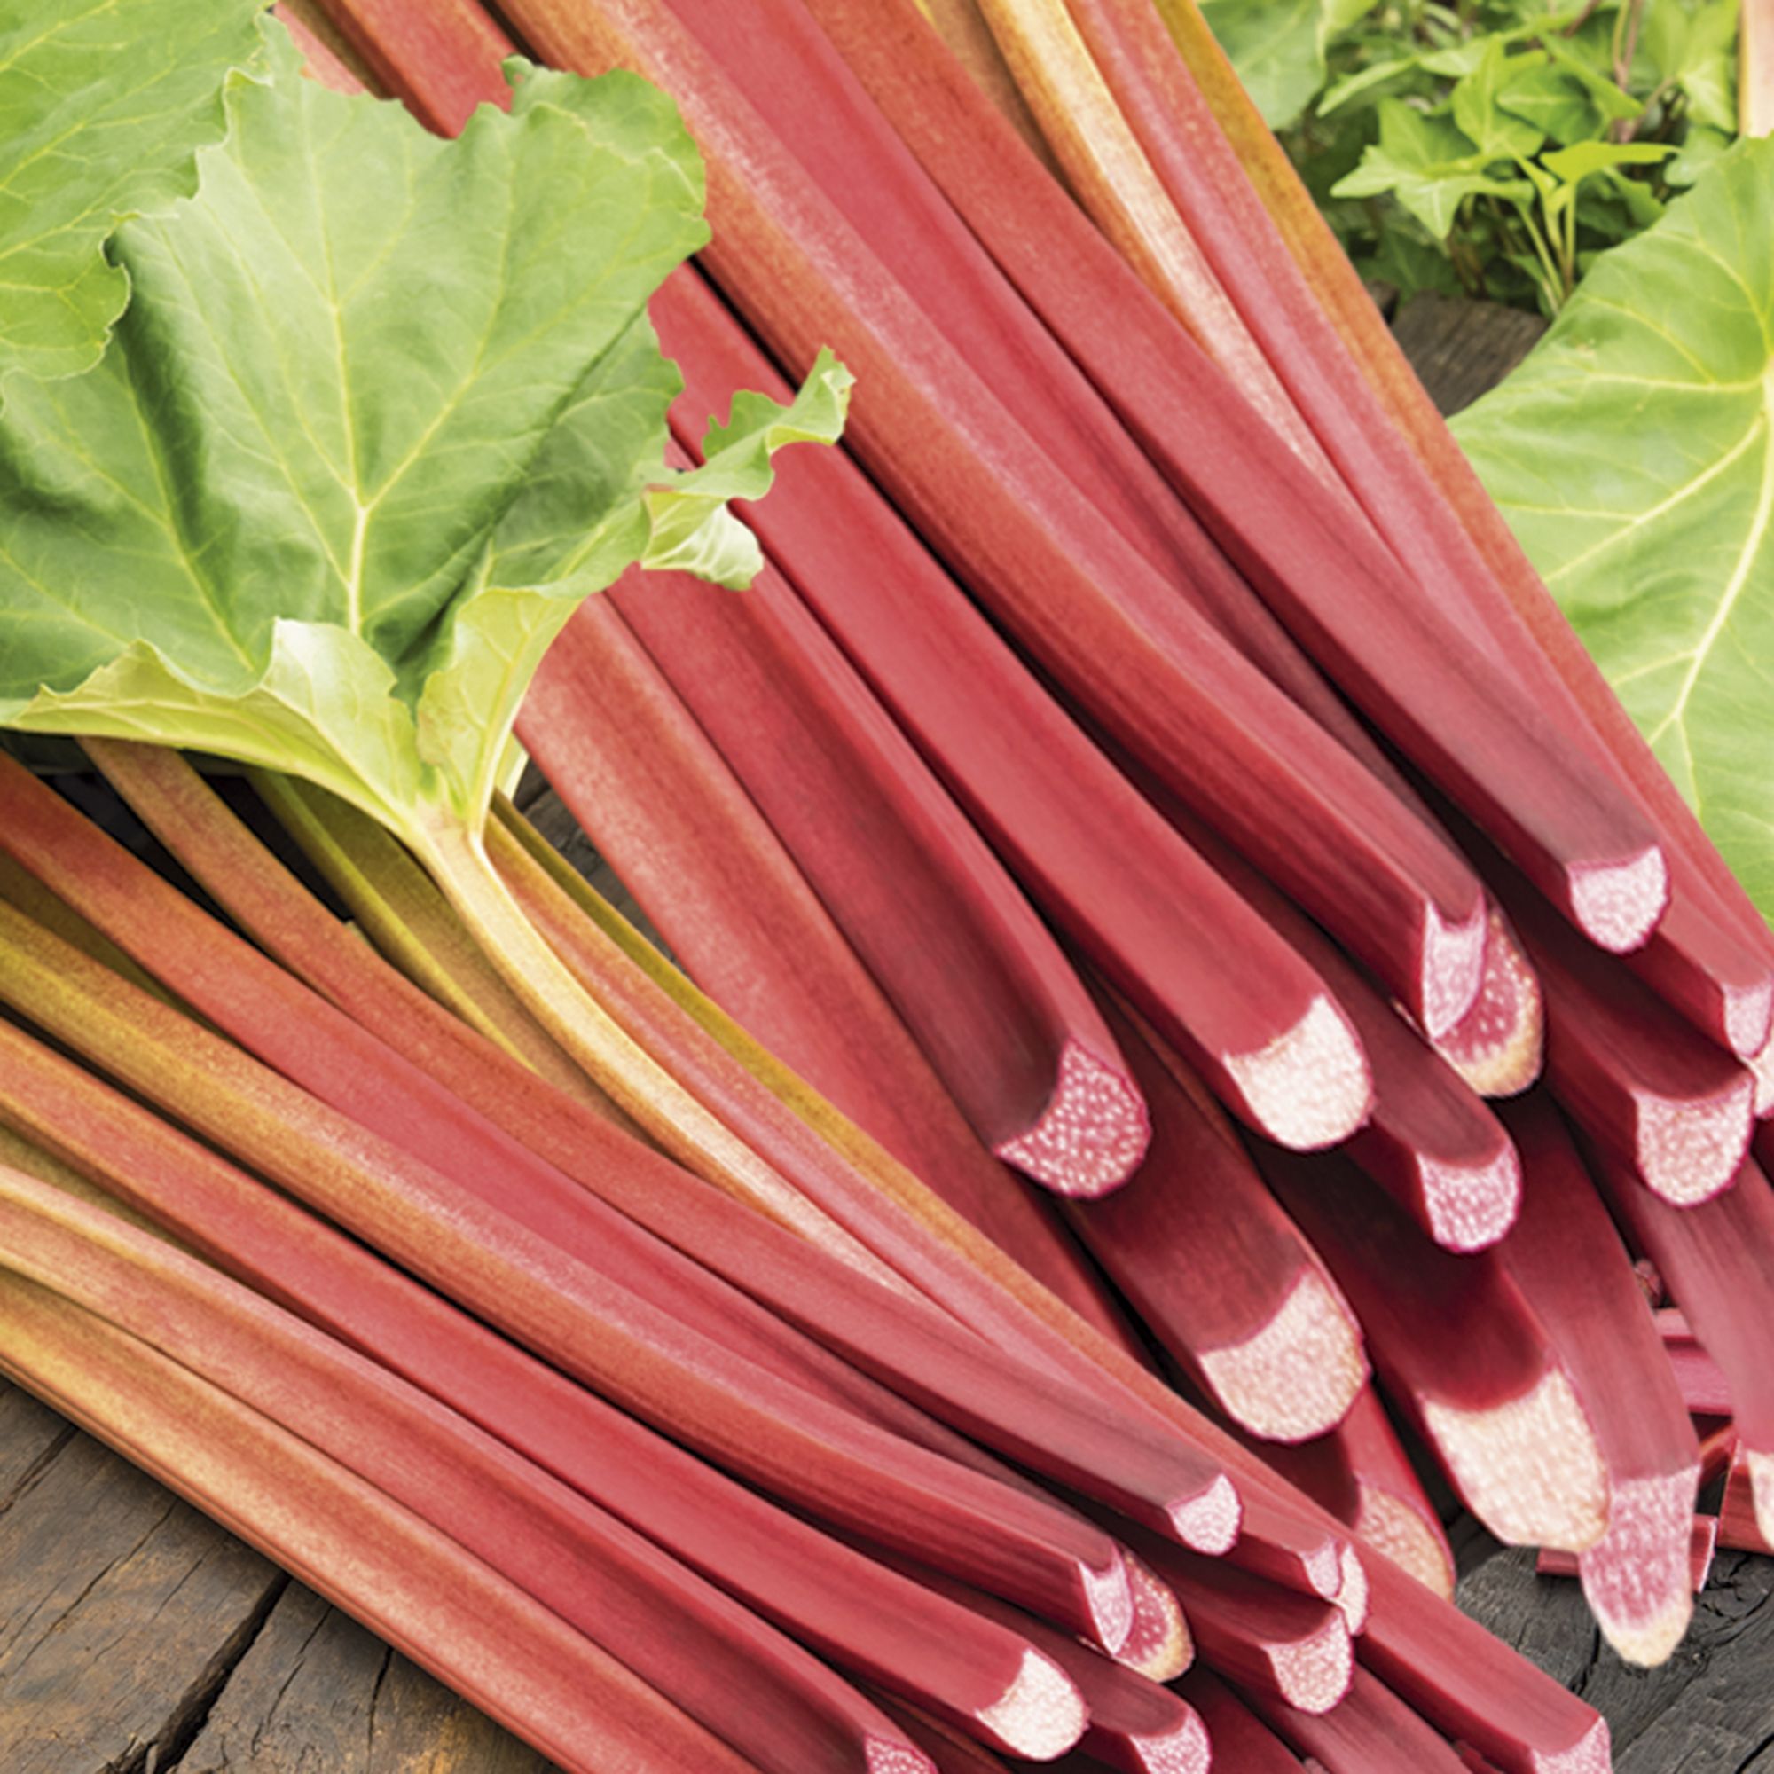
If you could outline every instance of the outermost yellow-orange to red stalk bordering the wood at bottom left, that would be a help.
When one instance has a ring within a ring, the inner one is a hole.
[[[0,1371],[569,1774],[616,1758],[660,1774],[752,1767],[447,1535],[177,1362],[12,1276],[0,1302]]]

